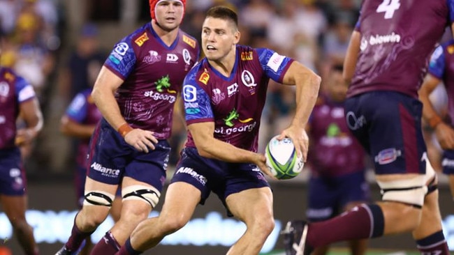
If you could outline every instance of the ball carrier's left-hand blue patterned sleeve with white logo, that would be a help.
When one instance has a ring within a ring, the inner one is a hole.
[[[194,69],[186,75],[183,86],[186,123],[214,121],[210,96],[196,82]]]

